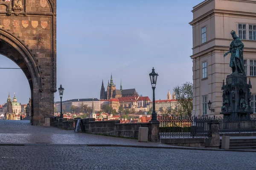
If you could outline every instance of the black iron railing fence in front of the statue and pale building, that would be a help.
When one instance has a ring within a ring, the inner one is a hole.
[[[209,136],[209,122],[219,122],[220,133],[256,132],[256,116],[223,118],[216,116],[178,117],[160,114],[160,138],[205,138]]]

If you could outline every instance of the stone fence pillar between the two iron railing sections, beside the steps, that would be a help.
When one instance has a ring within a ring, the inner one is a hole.
[[[218,120],[212,120],[208,123],[209,126],[209,136],[205,139],[205,147],[220,147],[220,131],[219,131]]]

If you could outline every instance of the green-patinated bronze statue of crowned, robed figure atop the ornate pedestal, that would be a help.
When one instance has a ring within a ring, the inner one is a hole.
[[[233,41],[230,44],[230,50],[224,54],[224,57],[227,54],[231,53],[230,57],[230,67],[232,68],[232,73],[242,73],[245,74],[244,71],[244,44],[237,37],[236,31],[231,31],[230,33],[233,37]]]

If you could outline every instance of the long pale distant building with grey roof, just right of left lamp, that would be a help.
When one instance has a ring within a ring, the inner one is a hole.
[[[72,99],[66,100],[62,102],[62,111],[63,112],[70,112],[71,106],[74,105],[76,107],[81,107],[81,105],[87,105],[89,108],[92,108],[94,105],[95,112],[101,110],[101,102],[99,99]],[[57,108],[58,112],[61,111],[61,102],[55,102],[55,107]]]

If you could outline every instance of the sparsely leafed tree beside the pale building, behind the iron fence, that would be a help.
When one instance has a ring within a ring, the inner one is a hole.
[[[178,116],[189,116],[192,115],[193,109],[193,86],[191,82],[185,82],[181,86],[176,86],[173,89],[176,99],[177,106],[175,108]]]

